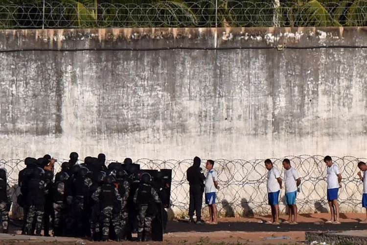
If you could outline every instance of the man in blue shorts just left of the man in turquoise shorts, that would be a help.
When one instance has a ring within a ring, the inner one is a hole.
[[[279,224],[279,193],[282,188],[282,179],[279,170],[273,166],[270,159],[265,160],[265,168],[268,170],[268,199],[273,217],[273,220],[269,223]]]

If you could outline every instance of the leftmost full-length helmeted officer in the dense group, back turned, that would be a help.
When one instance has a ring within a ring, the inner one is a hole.
[[[29,205],[29,210],[24,229],[25,235],[33,235],[32,224],[36,219],[36,235],[41,236],[47,194],[46,183],[43,180],[44,174],[45,171],[43,169],[36,168],[28,182],[28,195],[26,201]]]

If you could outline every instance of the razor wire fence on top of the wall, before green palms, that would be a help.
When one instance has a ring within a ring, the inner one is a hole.
[[[111,2],[100,0],[94,5],[83,1],[32,0],[5,4],[0,6],[0,28],[367,25],[367,0]]]

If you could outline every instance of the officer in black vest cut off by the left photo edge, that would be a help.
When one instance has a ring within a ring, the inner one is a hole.
[[[10,186],[6,182],[6,171],[0,169],[0,214],[2,221],[2,233],[8,233],[11,202]]]

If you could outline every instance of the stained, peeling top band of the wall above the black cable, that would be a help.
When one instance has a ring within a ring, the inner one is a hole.
[[[366,46],[367,27],[0,30],[0,50]]]

